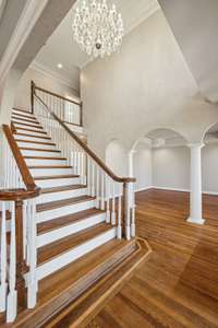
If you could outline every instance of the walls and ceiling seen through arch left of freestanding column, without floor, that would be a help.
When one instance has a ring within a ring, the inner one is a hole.
[[[156,129],[133,145],[136,190],[156,188],[178,191],[190,189],[187,141],[171,129]]]

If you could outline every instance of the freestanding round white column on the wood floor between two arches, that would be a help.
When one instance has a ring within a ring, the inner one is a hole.
[[[190,218],[187,222],[204,224],[202,218],[202,148],[203,143],[189,144],[191,150]]]

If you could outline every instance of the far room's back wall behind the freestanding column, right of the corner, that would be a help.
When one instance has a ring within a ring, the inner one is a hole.
[[[218,143],[202,150],[203,192],[218,192]],[[153,186],[190,190],[190,149],[174,147],[153,150]]]

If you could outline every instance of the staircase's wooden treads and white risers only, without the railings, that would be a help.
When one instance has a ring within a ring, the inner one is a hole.
[[[96,198],[87,195],[87,186],[73,173],[68,159],[36,117],[13,109],[12,122],[17,145],[36,185],[41,188],[36,199],[39,281],[116,238],[117,230],[106,224],[106,211],[96,209]]]

